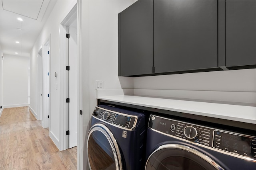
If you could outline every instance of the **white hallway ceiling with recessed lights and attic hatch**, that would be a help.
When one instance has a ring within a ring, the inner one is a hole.
[[[55,4],[56,0],[1,0],[3,54],[30,57],[32,47]]]

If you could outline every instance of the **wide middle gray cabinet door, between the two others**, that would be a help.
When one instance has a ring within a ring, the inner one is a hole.
[[[155,72],[218,66],[217,0],[154,1]]]

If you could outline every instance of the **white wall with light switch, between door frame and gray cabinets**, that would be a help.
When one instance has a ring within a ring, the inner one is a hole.
[[[96,106],[95,81],[104,81],[104,89],[133,88],[133,78],[118,78],[118,13],[134,2],[82,1],[83,169],[88,123]]]

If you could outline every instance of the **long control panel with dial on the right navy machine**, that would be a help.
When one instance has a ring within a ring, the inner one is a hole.
[[[256,137],[150,115],[148,127],[196,145],[256,160]]]

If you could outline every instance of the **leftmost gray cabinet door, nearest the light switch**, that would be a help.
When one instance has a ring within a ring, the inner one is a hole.
[[[119,76],[152,73],[153,1],[139,0],[119,14]]]

